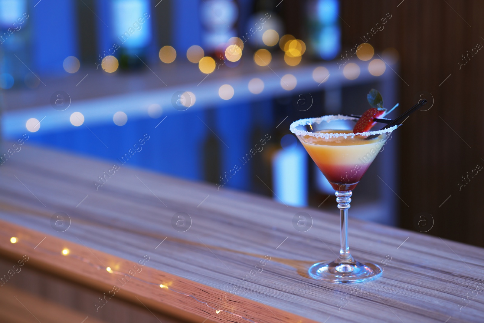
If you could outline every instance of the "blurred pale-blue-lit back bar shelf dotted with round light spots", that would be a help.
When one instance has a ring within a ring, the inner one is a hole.
[[[112,74],[102,71],[101,67],[98,70],[84,68],[65,77],[41,78],[42,82],[33,90],[4,92],[2,131],[6,138],[15,138],[25,133],[25,123],[30,118],[42,120],[43,132],[72,128],[69,118],[74,111],[81,112],[90,125],[112,121],[117,111],[125,112],[129,118],[148,118],[148,107],[152,104],[161,105],[164,115],[180,113],[172,105],[172,97],[178,91],[195,94],[196,102],[187,111],[274,96],[340,89],[368,82],[379,82],[387,92],[392,90],[386,99],[389,96],[390,99],[395,97],[396,65],[387,65],[385,73],[375,77],[368,71],[369,62],[356,58],[352,62],[360,68],[360,75],[353,80],[344,77],[343,67],[339,69],[335,62],[305,63],[291,67],[276,55],[270,66],[257,66],[251,59],[244,58],[239,66],[220,66],[210,75],[201,73],[197,64],[185,61],[171,64],[160,62],[150,64],[150,67],[140,71],[117,71]],[[313,79],[313,71],[319,66],[324,66],[330,75],[322,83]],[[286,74],[297,79],[297,85],[292,91],[284,90],[281,86],[281,78]],[[264,82],[264,90],[259,94],[253,94],[248,89],[249,81],[256,77]],[[235,89],[233,97],[228,101],[218,95],[218,89],[223,84],[229,84]],[[50,95],[58,91],[64,91],[70,96],[71,105],[67,110],[58,111],[50,104]]]

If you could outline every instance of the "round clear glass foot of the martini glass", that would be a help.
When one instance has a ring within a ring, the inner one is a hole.
[[[371,262],[324,261],[312,265],[308,273],[314,279],[331,283],[361,283],[380,277],[383,269]]]

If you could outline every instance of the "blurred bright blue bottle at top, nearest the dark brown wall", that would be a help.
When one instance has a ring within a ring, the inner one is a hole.
[[[307,24],[310,52],[323,60],[333,60],[341,50],[338,0],[308,0]]]

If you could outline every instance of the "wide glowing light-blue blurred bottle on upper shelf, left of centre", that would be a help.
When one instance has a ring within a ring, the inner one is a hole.
[[[144,66],[151,42],[149,4],[149,0],[112,0],[113,38],[117,46],[110,48],[107,55],[116,56],[121,69]]]

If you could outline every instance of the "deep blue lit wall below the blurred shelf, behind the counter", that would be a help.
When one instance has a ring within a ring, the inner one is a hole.
[[[220,175],[242,158],[257,142],[251,142],[255,126],[271,126],[272,104],[264,101],[251,104],[224,103],[215,110],[215,125],[211,128],[221,141]],[[112,121],[103,125],[69,127],[51,133],[29,133],[29,143],[58,148],[76,154],[99,157],[118,165],[122,156],[138,142],[143,135],[150,139],[126,162],[129,167],[152,169],[168,175],[202,181],[204,176],[204,144],[211,131],[204,123],[208,110],[177,111],[158,119],[130,119],[123,126]],[[202,122],[203,121],[203,122]],[[156,126],[156,128],[155,128]],[[273,128],[273,127],[272,127]],[[274,133],[271,134],[275,138]],[[223,143],[222,142],[225,142]],[[227,144],[227,146],[226,146]],[[251,189],[251,172],[255,163],[250,161],[233,176],[226,187],[242,190]],[[93,179],[95,180],[95,179]]]

